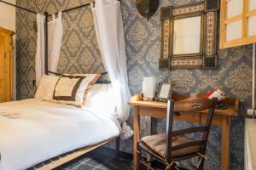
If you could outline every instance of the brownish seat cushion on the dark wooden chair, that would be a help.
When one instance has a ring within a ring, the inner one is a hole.
[[[166,156],[166,134],[156,134],[152,136],[146,136],[143,139],[141,139],[143,144],[146,144],[151,150],[153,150],[158,155],[165,157]],[[177,136],[172,138],[172,147],[177,146],[179,144],[186,144],[188,142],[191,142],[191,139],[189,139],[186,136]],[[189,155],[192,153],[195,153],[200,150],[199,145],[190,146],[187,148],[183,148],[181,150],[174,150],[172,151],[172,156],[184,156]]]

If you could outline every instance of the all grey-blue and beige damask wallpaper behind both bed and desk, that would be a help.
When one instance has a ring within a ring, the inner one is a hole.
[[[160,6],[195,3],[199,0],[160,0]],[[17,0],[22,7],[43,13],[57,12],[66,8],[87,3],[86,0]],[[218,50],[216,70],[172,70],[159,71],[160,58],[160,8],[150,20],[137,13],[135,0],[121,0],[125,27],[125,42],[131,94],[142,91],[144,76],[159,77],[165,82],[175,82],[174,90],[181,94],[207,92],[215,88],[223,89],[231,97],[241,100],[241,115],[250,105],[252,97],[252,47]],[[32,98],[35,88],[34,56],[36,53],[35,14],[20,9],[16,12],[17,44],[17,97]],[[90,7],[63,14],[64,37],[58,70],[61,73],[103,71],[102,59],[97,47]],[[129,120],[132,124],[132,119]],[[154,120],[154,132],[161,133],[165,122]],[[193,126],[190,123],[176,122],[175,127]],[[145,123],[142,120],[143,132]],[[243,169],[244,120],[233,118],[231,123],[230,169]],[[221,129],[212,127],[209,137],[206,163],[207,170],[220,169]],[[122,150],[131,152],[132,141],[121,143]]]

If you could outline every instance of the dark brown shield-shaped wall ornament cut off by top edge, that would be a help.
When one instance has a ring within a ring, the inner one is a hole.
[[[159,6],[159,0],[137,0],[137,11],[149,19],[156,11]]]

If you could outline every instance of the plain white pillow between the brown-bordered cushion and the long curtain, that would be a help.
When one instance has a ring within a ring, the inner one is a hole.
[[[97,113],[112,114],[115,106],[111,84],[95,84],[90,88],[85,107],[90,107]]]

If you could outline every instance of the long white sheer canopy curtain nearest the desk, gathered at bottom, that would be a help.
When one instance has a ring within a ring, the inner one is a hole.
[[[124,122],[130,114],[127,103],[131,93],[128,86],[125,35],[120,3],[117,0],[96,0],[95,7],[91,4],[91,8],[102,60],[115,91],[116,117],[123,122],[121,138],[128,139],[133,132]]]

